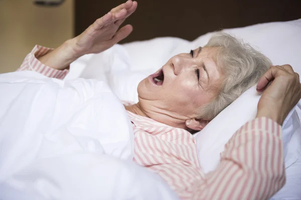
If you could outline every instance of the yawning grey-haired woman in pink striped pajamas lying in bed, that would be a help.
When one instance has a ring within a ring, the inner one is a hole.
[[[125,38],[132,26],[117,29],[136,7],[128,0],[56,49],[36,46],[19,70],[64,78],[81,55],[102,52]],[[125,105],[134,132],[133,161],[161,175],[183,199],[272,196],[285,183],[280,126],[300,99],[301,85],[291,66],[270,65],[262,53],[224,33],[170,58],[139,83],[139,102]],[[229,140],[217,169],[204,174],[191,132],[256,83],[258,91],[265,90],[256,118]]]

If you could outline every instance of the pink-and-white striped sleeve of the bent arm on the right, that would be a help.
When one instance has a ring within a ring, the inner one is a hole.
[[[215,171],[196,180],[193,199],[268,199],[285,183],[281,126],[260,117],[225,145]]]

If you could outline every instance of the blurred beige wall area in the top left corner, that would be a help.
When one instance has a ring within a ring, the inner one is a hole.
[[[57,47],[71,38],[73,4],[38,7],[33,0],[0,0],[0,73],[16,70],[35,44]]]

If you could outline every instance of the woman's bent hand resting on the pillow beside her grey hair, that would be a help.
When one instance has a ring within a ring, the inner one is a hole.
[[[257,117],[266,116],[282,125],[301,98],[299,74],[288,64],[271,66],[259,79],[257,91],[263,91],[257,106]]]

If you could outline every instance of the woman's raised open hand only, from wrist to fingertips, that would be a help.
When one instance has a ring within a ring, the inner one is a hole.
[[[137,2],[128,0],[111,9],[84,32],[71,39],[75,56],[102,52],[127,37],[133,29],[132,26],[127,24],[119,30],[118,28],[136,8]]]

